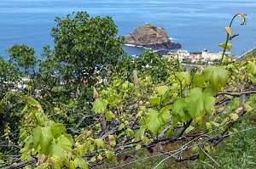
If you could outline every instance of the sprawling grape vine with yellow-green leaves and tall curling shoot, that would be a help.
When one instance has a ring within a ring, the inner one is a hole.
[[[236,14],[230,26],[224,29],[227,40],[220,44],[224,53],[231,49],[231,25],[236,17],[242,17],[241,24],[246,21],[245,14]],[[21,119],[18,141],[10,141],[9,137],[13,136],[9,126],[5,127],[4,143],[8,140],[8,147],[18,148],[14,151],[18,160],[15,161],[17,164],[3,168],[89,168],[104,161],[117,161],[125,149],[153,151],[156,146],[180,140],[185,143],[180,149],[161,150],[169,155],[166,159],[182,162],[209,158],[219,166],[218,161],[211,157],[212,151],[224,138],[239,132],[237,121],[255,114],[250,102],[241,102],[225,113],[224,104],[244,95],[253,98],[253,93],[256,93],[255,56],[235,62],[224,57],[224,53],[218,65],[195,72],[184,71],[177,60],[155,59],[166,74],[166,78],[158,82],[154,81],[156,76],[148,73],[150,69],[157,70],[157,65],[125,68],[120,62],[123,69],[113,68],[113,75],[109,77],[111,81],[107,79],[95,85],[95,100],[90,109],[85,104],[81,106],[78,97],[62,104],[51,100],[48,104],[44,96],[36,99],[29,91],[6,94],[2,107],[17,112],[15,106],[19,105]],[[155,57],[151,53],[150,56]],[[125,62],[126,65],[139,65],[141,60],[127,59]],[[127,76],[131,69],[137,69],[134,76],[137,82]],[[8,105],[11,107],[7,108]],[[81,118],[67,128],[62,119],[72,121],[66,116],[77,112]],[[187,151],[192,151],[192,154],[186,156],[184,152]],[[0,159],[12,161],[2,152]]]

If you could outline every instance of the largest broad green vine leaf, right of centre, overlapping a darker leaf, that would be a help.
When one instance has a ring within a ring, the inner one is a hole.
[[[215,104],[215,98],[212,93],[204,91],[200,87],[193,88],[189,91],[184,99],[183,109],[189,112],[193,119],[209,112]]]

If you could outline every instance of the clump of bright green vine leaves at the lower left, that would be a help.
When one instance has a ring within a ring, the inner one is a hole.
[[[24,110],[21,111],[25,124],[33,124],[33,127],[25,126],[20,130],[20,137],[26,140],[24,147],[20,149],[21,161],[37,155],[37,168],[88,168],[81,155],[72,154],[73,138],[67,134],[64,125],[50,121],[35,99],[21,99],[26,102]]]

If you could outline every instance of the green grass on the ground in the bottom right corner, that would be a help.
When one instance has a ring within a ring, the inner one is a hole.
[[[256,118],[242,121],[237,129],[255,127]],[[221,168],[256,168],[256,130],[241,132],[232,138],[226,138],[218,145],[218,152],[212,155]],[[218,168],[212,161],[195,161],[191,168]]]

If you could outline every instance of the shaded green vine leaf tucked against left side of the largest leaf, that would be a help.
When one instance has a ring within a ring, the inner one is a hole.
[[[185,99],[179,98],[177,99],[172,107],[172,113],[174,116],[178,116],[179,120],[182,122],[189,121],[191,119],[191,116],[189,115],[188,111],[183,110],[183,104],[184,104]]]

